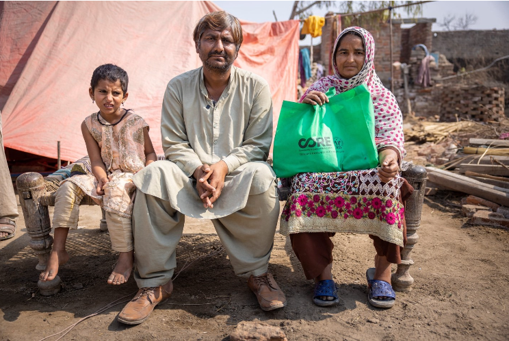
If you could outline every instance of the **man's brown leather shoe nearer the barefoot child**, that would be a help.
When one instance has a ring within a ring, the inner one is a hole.
[[[141,288],[134,299],[122,309],[117,320],[126,325],[139,325],[151,315],[155,306],[171,296],[163,286]]]

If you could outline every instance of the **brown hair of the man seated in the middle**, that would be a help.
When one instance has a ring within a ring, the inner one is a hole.
[[[200,46],[201,36],[206,29],[212,29],[213,31],[230,29],[233,42],[235,42],[235,47],[237,47],[237,52],[239,51],[240,45],[242,45],[242,27],[240,26],[239,19],[235,16],[224,11],[205,14],[205,16],[198,21],[196,27],[194,27],[193,40],[196,46]]]

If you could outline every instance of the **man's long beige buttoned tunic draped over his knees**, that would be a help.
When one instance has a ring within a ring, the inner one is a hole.
[[[187,216],[232,214],[245,207],[248,195],[267,191],[276,177],[272,169],[269,176],[255,177],[257,167],[246,168],[250,162],[268,166],[272,97],[263,78],[241,68],[232,66],[217,103],[208,97],[203,68],[174,77],[164,95],[161,137],[167,160],[153,162],[133,181],[145,194],[169,201]],[[228,165],[229,175],[214,207],[205,210],[192,175],[198,166],[220,160]]]

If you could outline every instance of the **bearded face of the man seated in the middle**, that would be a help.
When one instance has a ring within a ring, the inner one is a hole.
[[[203,66],[216,73],[226,73],[237,58],[237,47],[229,29],[206,29],[196,45]]]

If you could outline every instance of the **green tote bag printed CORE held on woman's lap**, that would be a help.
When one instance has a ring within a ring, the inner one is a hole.
[[[365,84],[336,94],[324,105],[283,101],[274,137],[274,172],[332,173],[374,168],[374,109]]]

